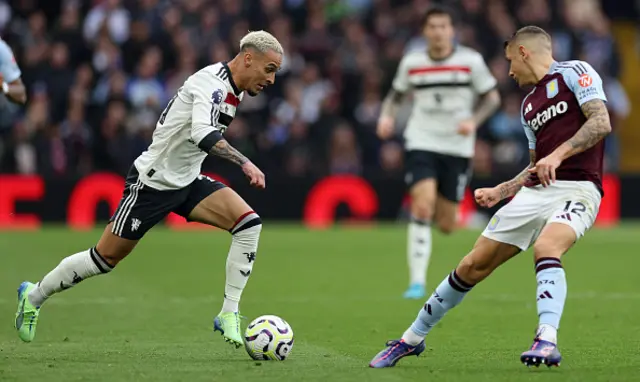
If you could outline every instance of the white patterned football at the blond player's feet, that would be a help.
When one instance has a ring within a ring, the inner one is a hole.
[[[284,361],[293,348],[293,329],[278,316],[260,316],[247,326],[244,346],[255,360]]]

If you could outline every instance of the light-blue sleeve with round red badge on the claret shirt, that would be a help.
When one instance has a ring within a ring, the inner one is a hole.
[[[562,72],[564,82],[573,92],[582,106],[585,102],[600,99],[607,102],[604,94],[602,78],[593,67],[584,61],[577,61],[575,64]]]

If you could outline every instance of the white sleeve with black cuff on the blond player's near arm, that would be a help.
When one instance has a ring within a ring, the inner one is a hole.
[[[193,99],[191,139],[200,149],[209,152],[221,137],[218,118],[227,97],[227,87],[208,74],[193,78],[189,85],[188,91]]]

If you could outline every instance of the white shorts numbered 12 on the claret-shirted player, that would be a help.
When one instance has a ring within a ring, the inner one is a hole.
[[[573,228],[577,241],[593,226],[601,200],[597,187],[589,181],[523,187],[493,215],[482,235],[526,251],[545,225],[562,223]]]

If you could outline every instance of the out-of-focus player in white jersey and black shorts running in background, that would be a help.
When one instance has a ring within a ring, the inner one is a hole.
[[[427,51],[407,53],[384,100],[378,136],[394,134],[405,96],[414,105],[404,132],[406,182],[411,194],[405,298],[423,298],[431,257],[431,223],[450,233],[470,178],[476,129],[500,106],[496,79],[480,53],[456,45],[453,14],[432,8],[424,20]],[[474,111],[475,110],[475,111]]]

